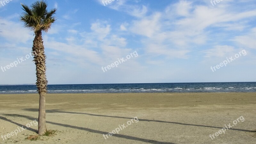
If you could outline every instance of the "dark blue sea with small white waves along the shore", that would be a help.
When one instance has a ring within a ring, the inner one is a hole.
[[[36,90],[36,85],[0,85],[0,94],[36,93]],[[48,85],[48,93],[111,92],[256,92],[256,82]]]

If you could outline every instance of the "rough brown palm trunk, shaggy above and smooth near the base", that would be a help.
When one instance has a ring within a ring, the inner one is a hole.
[[[46,95],[46,66],[45,66],[45,54],[42,38],[42,31],[35,32],[35,39],[33,41],[32,51],[36,53],[34,55],[34,61],[36,64],[36,86],[39,93],[39,114],[38,114],[38,134],[43,135],[46,130],[45,121],[45,95]]]

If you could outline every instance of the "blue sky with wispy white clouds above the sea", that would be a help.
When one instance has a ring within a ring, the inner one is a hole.
[[[8,3],[7,3],[8,2]],[[22,4],[0,0],[0,84],[35,84]],[[255,0],[47,0],[48,84],[256,81]]]

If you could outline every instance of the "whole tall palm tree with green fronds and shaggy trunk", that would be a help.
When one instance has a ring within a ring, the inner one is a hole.
[[[36,1],[28,7],[21,4],[22,10],[25,12],[20,16],[20,21],[24,22],[24,27],[34,31],[34,41],[32,53],[34,54],[34,62],[36,64],[36,86],[39,93],[39,115],[38,115],[38,134],[43,135],[46,130],[45,122],[45,95],[47,92],[47,80],[45,75],[45,58],[42,31],[47,32],[56,18],[53,16],[57,9],[48,11],[48,4],[44,1]]]

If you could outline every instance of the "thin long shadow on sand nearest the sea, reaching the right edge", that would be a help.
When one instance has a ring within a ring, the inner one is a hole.
[[[36,108],[26,108],[26,109],[24,109],[24,110],[27,110],[27,111],[35,111],[35,112],[38,111],[38,109],[36,109]],[[46,110],[46,113],[83,114],[83,115],[90,115],[90,116],[104,116],[104,117],[114,117],[114,118],[132,119],[131,117],[95,115],[95,114],[88,114],[88,113],[77,113],[77,112],[61,111],[61,110],[58,110],[58,109]],[[201,127],[218,128],[218,129],[222,129],[222,128],[223,128],[223,127],[217,127],[217,126],[198,125],[198,124],[184,124],[184,123],[166,122],[166,121],[160,121],[160,120],[148,120],[148,119],[139,119],[139,120],[140,120],[140,121],[146,121],[146,122],[159,122],[159,123],[170,123],[170,124],[180,124],[180,125],[191,125],[191,126],[201,126]],[[234,129],[234,128],[230,128],[230,129],[228,129],[228,130],[243,131],[243,132],[256,132],[256,131],[252,131],[252,130],[243,130],[243,129]]]

